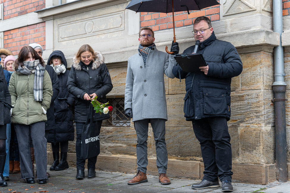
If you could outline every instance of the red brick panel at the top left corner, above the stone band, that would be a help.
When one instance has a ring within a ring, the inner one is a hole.
[[[0,0],[0,3],[4,3],[4,20],[45,8],[45,0]]]

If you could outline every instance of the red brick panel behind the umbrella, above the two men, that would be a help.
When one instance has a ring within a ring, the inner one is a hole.
[[[207,16],[211,21],[220,20],[220,5],[215,5],[207,9],[175,12],[175,28],[192,25],[195,18]],[[141,12],[141,27],[151,27],[153,31],[173,28],[172,13],[151,13]]]

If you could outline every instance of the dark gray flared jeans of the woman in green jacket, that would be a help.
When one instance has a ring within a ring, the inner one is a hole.
[[[45,121],[31,125],[15,124],[15,130],[19,145],[20,171],[22,179],[34,178],[30,153],[30,140],[34,147],[34,155],[37,168],[37,180],[46,177],[46,138]]]

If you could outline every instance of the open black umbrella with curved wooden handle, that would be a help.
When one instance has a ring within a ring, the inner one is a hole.
[[[133,10],[135,12],[172,12],[174,34],[173,40],[175,42],[174,12],[187,11],[189,14],[189,10],[201,10],[218,4],[219,3],[216,0],[132,0],[126,9]],[[172,53],[167,50],[167,46],[165,50],[167,53]]]

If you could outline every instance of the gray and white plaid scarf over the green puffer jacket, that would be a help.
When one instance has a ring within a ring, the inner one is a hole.
[[[24,75],[30,75],[34,73],[34,84],[33,84],[33,95],[35,101],[43,101],[43,75],[45,72],[45,67],[43,67],[39,60],[34,61],[24,61],[22,67],[18,67],[16,72]]]

